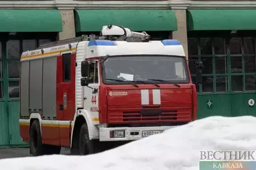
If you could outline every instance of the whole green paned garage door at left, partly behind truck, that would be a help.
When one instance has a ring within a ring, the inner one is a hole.
[[[28,36],[5,35],[0,39],[0,147],[28,145],[19,134],[20,55],[49,39],[24,37]]]

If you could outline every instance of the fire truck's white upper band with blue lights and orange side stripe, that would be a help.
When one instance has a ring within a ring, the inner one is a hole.
[[[66,45],[51,46],[23,52],[21,61],[54,57],[61,52],[74,51],[84,53],[86,58],[94,58],[105,55],[175,55],[184,57],[184,48],[177,39],[165,39],[163,41],[127,42],[95,39],[91,41],[79,41]]]

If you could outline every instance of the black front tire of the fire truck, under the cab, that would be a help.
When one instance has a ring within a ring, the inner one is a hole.
[[[79,155],[90,155],[99,151],[99,140],[90,140],[87,124],[81,126],[79,133]]]

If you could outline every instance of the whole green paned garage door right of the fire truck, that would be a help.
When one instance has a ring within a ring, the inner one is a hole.
[[[256,116],[255,38],[229,32],[222,37],[191,37],[188,43],[193,80],[195,60],[204,62],[202,85],[197,87],[198,118]]]

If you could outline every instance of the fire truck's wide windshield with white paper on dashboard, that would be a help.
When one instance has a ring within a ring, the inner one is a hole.
[[[102,80],[106,84],[125,83],[125,81],[133,81],[134,83],[189,83],[189,76],[186,60],[183,57],[122,55],[109,56],[102,62]]]

